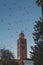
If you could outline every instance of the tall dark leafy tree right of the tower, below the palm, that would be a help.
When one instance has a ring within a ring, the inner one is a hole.
[[[41,20],[36,21],[34,25],[33,39],[35,45],[31,46],[32,51],[31,58],[34,60],[34,65],[43,64],[43,22]]]

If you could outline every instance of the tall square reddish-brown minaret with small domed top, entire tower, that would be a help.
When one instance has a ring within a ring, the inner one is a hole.
[[[24,38],[24,33],[20,33],[19,39],[17,41],[17,59],[27,58],[27,43]]]

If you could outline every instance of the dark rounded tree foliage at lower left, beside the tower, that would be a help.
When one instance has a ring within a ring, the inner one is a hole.
[[[0,65],[18,65],[11,51],[0,49]]]

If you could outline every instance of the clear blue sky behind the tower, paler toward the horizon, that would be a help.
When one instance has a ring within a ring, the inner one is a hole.
[[[0,49],[12,51],[17,58],[17,40],[20,32],[27,39],[27,56],[30,57],[35,21],[41,17],[36,0],[0,0]]]

